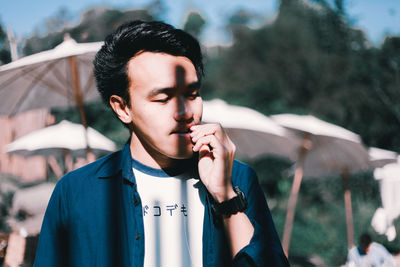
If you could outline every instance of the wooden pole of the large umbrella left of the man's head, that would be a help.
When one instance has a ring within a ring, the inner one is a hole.
[[[79,111],[79,115],[81,117],[82,125],[83,125],[83,127],[85,127],[86,159],[87,159],[87,161],[93,161],[93,153],[92,153],[91,148],[89,146],[89,140],[88,140],[88,135],[87,135],[88,124],[87,124],[87,121],[86,121],[85,107],[83,105],[83,96],[82,96],[82,93],[81,93],[81,90],[80,90],[80,84],[79,84],[78,64],[76,63],[76,57],[75,56],[69,57],[68,60],[69,60],[69,66],[71,68],[71,74],[72,74],[72,81],[73,81],[73,86],[74,86],[76,106],[78,107],[78,111]]]

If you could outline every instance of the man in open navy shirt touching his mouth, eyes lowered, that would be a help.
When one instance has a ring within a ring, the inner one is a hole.
[[[131,138],[59,181],[36,266],[288,265],[254,171],[234,161],[220,125],[201,124],[198,42],[133,21],[94,66]]]

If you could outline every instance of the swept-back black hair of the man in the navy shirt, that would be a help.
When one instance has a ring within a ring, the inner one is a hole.
[[[130,21],[106,37],[93,61],[97,89],[107,106],[111,95],[115,94],[130,107],[127,63],[136,54],[146,51],[187,57],[201,82],[202,54],[194,37],[163,22]]]

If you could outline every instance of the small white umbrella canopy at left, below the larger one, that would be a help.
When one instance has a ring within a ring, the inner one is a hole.
[[[88,127],[85,130],[81,124],[64,120],[18,138],[6,146],[6,151],[23,156],[48,156],[58,154],[61,150],[69,150],[74,156],[84,156],[87,144],[94,153],[116,150],[113,141],[93,128]]]

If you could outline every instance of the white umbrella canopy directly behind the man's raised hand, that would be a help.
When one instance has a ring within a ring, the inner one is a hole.
[[[276,155],[295,159],[298,140],[267,116],[246,107],[214,99],[203,103],[203,122],[220,123],[239,157]]]

